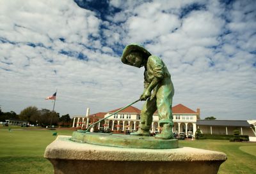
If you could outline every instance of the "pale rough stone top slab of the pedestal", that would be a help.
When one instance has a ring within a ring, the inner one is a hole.
[[[71,136],[58,136],[45,149],[48,159],[90,161],[225,161],[226,154],[191,147],[177,149],[134,149],[77,143]]]

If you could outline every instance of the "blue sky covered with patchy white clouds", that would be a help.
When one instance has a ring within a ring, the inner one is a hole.
[[[256,1],[0,0],[0,107],[60,115],[108,112],[143,92],[125,45],[161,57],[173,106],[200,117],[256,119]],[[141,109],[143,101],[134,106]]]

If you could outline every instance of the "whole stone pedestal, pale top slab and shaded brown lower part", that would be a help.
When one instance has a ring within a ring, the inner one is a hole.
[[[56,174],[213,174],[227,159],[222,152],[189,147],[127,149],[76,143],[70,138],[58,136],[45,150],[44,157],[51,161]]]

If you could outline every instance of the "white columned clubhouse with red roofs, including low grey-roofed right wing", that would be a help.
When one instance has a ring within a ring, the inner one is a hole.
[[[89,115],[89,110],[86,116],[74,116],[72,127],[86,129],[90,124],[97,122],[100,119],[106,118],[116,110],[109,112],[99,112]],[[240,134],[246,134],[252,139],[256,139],[256,120],[200,120],[200,109],[197,108],[196,112],[190,108],[179,104],[173,106],[173,132],[176,133],[192,133],[195,135],[196,129],[200,128],[202,133],[205,134],[233,134],[234,129],[238,129]],[[113,132],[136,131],[140,124],[141,111],[134,107],[129,106],[121,112],[112,115],[106,120],[102,120],[93,127],[94,130],[100,128],[110,129]],[[157,112],[153,115],[153,121],[150,129],[151,133],[161,132],[159,127],[159,119]]]

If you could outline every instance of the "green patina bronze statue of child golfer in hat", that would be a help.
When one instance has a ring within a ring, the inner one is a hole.
[[[156,55],[151,55],[136,43],[124,48],[122,62],[137,68],[144,66],[144,91],[140,99],[146,101],[141,110],[140,129],[132,135],[149,136],[153,114],[158,110],[159,124],[163,127],[155,138],[172,139],[172,98],[174,87],[171,75],[164,62]]]

